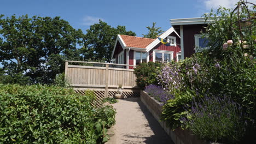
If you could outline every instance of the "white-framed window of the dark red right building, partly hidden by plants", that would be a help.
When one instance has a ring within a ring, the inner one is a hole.
[[[208,40],[206,38],[202,38],[202,34],[195,34],[195,52],[200,52],[204,49],[208,49],[207,47]]]

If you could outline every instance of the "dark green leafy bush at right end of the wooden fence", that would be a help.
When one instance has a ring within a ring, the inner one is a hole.
[[[157,85],[156,72],[161,68],[162,63],[140,63],[135,69],[137,86],[144,90],[144,88],[150,84]]]

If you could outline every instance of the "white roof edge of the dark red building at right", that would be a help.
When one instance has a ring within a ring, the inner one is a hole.
[[[203,17],[193,17],[193,18],[185,18],[185,19],[171,19],[171,25],[177,26],[177,25],[200,25],[200,24],[206,24],[210,23],[211,20],[205,21],[205,18]]]

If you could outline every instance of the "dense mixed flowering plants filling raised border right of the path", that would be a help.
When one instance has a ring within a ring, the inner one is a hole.
[[[241,11],[244,16],[245,7]],[[255,15],[255,7],[250,11]],[[213,142],[255,143],[256,27],[242,28],[241,39],[236,25],[230,30],[231,23],[237,21],[230,15],[231,10],[222,7],[216,13],[205,14],[205,20],[211,20],[203,33],[208,49],[161,68],[151,67],[157,82],[150,83],[148,73],[137,73],[137,83],[147,86],[146,91],[156,99],[161,97],[156,92],[159,88],[173,96],[162,107],[161,116],[172,130],[190,129],[201,139]],[[146,71],[139,68],[137,72]]]

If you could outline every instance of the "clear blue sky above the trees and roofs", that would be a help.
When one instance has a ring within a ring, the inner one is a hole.
[[[251,0],[255,2],[256,0]],[[102,19],[108,25],[126,26],[138,37],[148,32],[146,26],[156,22],[157,27],[166,31],[171,27],[170,19],[201,17],[218,5],[232,7],[237,0],[8,0],[0,4],[0,14],[29,16],[61,16],[74,28],[86,29]]]

